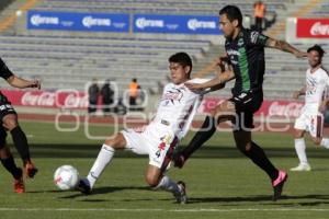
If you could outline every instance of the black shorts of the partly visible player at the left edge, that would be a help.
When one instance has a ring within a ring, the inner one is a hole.
[[[16,114],[8,99],[0,93],[0,149],[5,146],[7,130],[2,126],[2,119],[8,114]]]

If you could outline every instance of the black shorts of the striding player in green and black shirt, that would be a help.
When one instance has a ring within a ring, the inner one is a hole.
[[[234,119],[234,130],[251,130],[253,126],[253,114],[263,103],[262,92],[242,92],[234,95],[228,101],[232,102],[236,107],[236,118]]]

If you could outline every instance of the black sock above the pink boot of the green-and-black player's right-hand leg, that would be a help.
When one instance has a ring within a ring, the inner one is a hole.
[[[242,152],[250,158],[254,164],[265,171],[272,181],[279,176],[277,169],[274,168],[263,149],[257,143],[251,142],[251,149],[249,151],[242,150]]]

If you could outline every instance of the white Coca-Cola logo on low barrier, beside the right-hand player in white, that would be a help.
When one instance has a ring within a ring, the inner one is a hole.
[[[271,103],[269,107],[269,116],[288,116],[298,117],[300,115],[302,103],[280,104],[280,102]]]

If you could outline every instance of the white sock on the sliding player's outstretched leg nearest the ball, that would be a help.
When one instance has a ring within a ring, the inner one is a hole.
[[[97,180],[100,177],[106,165],[111,162],[115,150],[111,146],[103,145],[97,160],[90,169],[87,180],[92,188]]]

